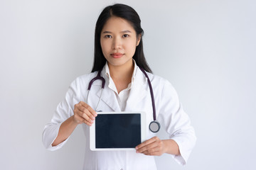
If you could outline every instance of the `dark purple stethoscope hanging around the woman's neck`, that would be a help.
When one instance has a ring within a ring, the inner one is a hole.
[[[156,106],[155,106],[155,102],[154,102],[154,93],[153,93],[153,89],[152,89],[152,85],[151,85],[151,82],[149,80],[149,77],[148,75],[146,74],[146,72],[144,71],[144,69],[142,69],[142,67],[139,67],[139,69],[142,70],[143,74],[145,75],[147,81],[148,81],[148,84],[149,84],[149,90],[150,90],[150,95],[151,95],[151,101],[152,101],[152,108],[153,108],[153,118],[154,120],[151,121],[151,123],[149,123],[149,130],[151,132],[158,132],[160,130],[160,123],[158,121],[156,121]],[[90,93],[90,89],[92,87],[92,84],[95,80],[97,79],[100,79],[102,81],[102,90],[100,92],[100,99],[97,103],[97,106],[96,106],[96,109],[95,111],[97,111],[97,107],[99,106],[99,103],[101,101],[101,98],[102,98],[102,91],[105,87],[105,79],[103,77],[100,76],[100,73],[102,72],[102,69],[100,69],[97,73],[97,76],[95,78],[93,78],[90,83],[89,83],[89,86],[88,86],[88,94],[87,94],[87,101],[88,101],[88,97],[89,97],[89,93]]]

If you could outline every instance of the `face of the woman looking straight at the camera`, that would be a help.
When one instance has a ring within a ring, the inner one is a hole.
[[[100,35],[102,53],[111,66],[132,64],[139,41],[132,25],[116,16],[108,19]]]

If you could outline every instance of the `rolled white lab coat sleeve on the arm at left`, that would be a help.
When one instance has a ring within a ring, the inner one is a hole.
[[[53,118],[51,119],[50,123],[48,123],[44,130],[43,130],[43,145],[46,147],[48,150],[56,150],[60,149],[65,145],[65,142],[68,141],[65,140],[64,142],[61,142],[57,146],[52,146],[53,141],[58,135],[58,131],[60,129],[60,125],[70,118],[70,116],[73,115],[73,109],[74,105],[76,103],[79,103],[80,100],[80,91],[79,91],[79,78],[75,79],[72,84],[70,84],[68,92],[65,95],[65,99],[58,104],[58,107],[53,114]],[[69,137],[68,137],[69,138]]]

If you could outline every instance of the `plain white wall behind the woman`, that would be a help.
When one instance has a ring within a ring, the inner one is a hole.
[[[1,0],[0,169],[82,169],[80,126],[56,152],[41,134],[71,81],[92,69],[95,23],[114,2],[139,13],[146,60],[174,85],[196,129],[188,164],[164,154],[159,169],[255,169],[256,3],[249,0]]]

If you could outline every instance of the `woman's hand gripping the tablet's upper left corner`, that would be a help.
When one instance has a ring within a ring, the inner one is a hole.
[[[91,126],[95,120],[97,113],[87,103],[80,101],[75,104],[73,120],[75,123]]]

